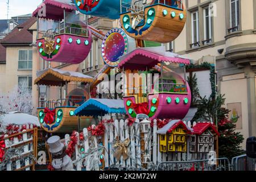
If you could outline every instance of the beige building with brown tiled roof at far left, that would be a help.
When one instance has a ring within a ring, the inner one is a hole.
[[[29,28],[35,22],[35,18],[28,19],[0,42],[0,90],[3,94],[19,83],[32,89],[32,33]]]

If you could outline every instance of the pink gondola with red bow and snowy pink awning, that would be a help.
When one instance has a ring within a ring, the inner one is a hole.
[[[190,64],[190,60],[165,52],[163,47],[138,48],[120,60],[118,67],[126,75],[123,101],[130,118],[136,118],[138,114],[151,119],[185,117],[191,105],[191,90],[184,79],[184,66]],[[151,71],[159,73],[159,79],[151,77],[148,81]],[[147,73],[144,78],[143,73]],[[134,84],[130,75],[138,84]],[[143,79],[147,80],[146,84],[142,83]]]

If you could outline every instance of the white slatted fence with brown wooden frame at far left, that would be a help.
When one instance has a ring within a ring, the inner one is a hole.
[[[22,125],[17,125],[19,129],[22,129]],[[20,131],[13,135],[5,135],[5,149],[19,148],[19,154],[11,156],[9,162],[6,164],[6,171],[30,171],[35,169],[35,160],[30,156],[34,156],[36,159],[37,153],[37,128],[33,125],[26,125],[26,130]],[[21,138],[18,138],[22,135]]]

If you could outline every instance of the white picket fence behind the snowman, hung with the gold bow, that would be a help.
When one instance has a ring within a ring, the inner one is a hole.
[[[113,123],[104,123],[105,125],[105,135],[102,138],[104,141],[104,160],[105,160],[105,168],[119,166],[123,168],[141,168],[142,167],[142,159],[141,159],[141,141],[144,140],[144,148],[148,149],[149,158],[152,164],[158,165],[160,162],[166,161],[186,161],[186,160],[200,160],[207,159],[207,155],[205,154],[190,154],[187,150],[186,153],[166,153],[160,152],[159,150],[159,139],[156,131],[158,130],[156,120],[154,121],[154,127],[149,127],[146,138],[141,138],[141,123],[137,119],[132,126],[127,125],[128,121],[121,119],[120,121],[115,120]],[[191,123],[190,121],[184,123],[189,126],[195,126],[196,122]],[[85,151],[88,150],[89,146],[93,145],[93,147],[97,148],[97,138],[91,136],[88,133],[87,129],[84,129],[84,141],[82,142]],[[76,133],[77,138],[79,139],[79,133]],[[144,135],[145,137],[145,135]],[[127,151],[130,156],[128,159],[123,160],[121,156],[121,160],[117,161],[114,158],[114,150],[112,147],[112,143],[114,139],[119,139],[123,142],[125,139],[130,139],[130,145],[127,147]],[[65,144],[68,145],[69,135],[65,136]],[[187,142],[188,144],[188,142]],[[188,148],[188,147],[187,147]],[[89,167],[82,163],[79,154],[79,147],[76,145],[75,158],[73,159],[73,163],[76,165],[77,170],[81,170],[82,168],[86,168],[89,170]],[[142,155],[143,156],[143,155]],[[99,162],[100,164],[100,162]],[[99,168],[95,169],[98,170]]]

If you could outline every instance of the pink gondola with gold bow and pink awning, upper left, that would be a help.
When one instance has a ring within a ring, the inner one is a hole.
[[[86,19],[73,13],[75,6],[46,0],[34,11],[38,18],[36,46],[47,61],[79,64],[88,56],[92,38]]]

